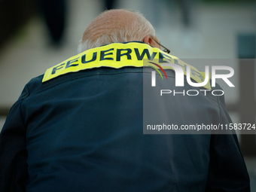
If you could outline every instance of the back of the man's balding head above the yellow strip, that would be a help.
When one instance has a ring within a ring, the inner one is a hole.
[[[143,41],[146,35],[155,37],[155,32],[142,14],[120,9],[105,11],[87,26],[78,52],[104,44]]]

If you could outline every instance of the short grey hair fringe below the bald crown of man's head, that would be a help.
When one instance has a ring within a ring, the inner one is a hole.
[[[143,41],[146,35],[155,37],[155,30],[151,23],[139,12],[132,11],[135,14],[134,21],[131,26],[125,25],[117,31],[111,31],[108,34],[102,34],[96,41],[87,38],[85,41],[79,41],[78,53],[94,47],[100,47],[104,44],[120,43],[128,41]]]

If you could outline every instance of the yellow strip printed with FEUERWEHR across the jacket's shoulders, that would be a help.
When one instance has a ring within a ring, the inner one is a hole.
[[[190,66],[178,59],[178,57],[164,53],[157,47],[151,47],[148,44],[138,42],[114,43],[86,50],[47,69],[42,82],[49,81],[59,75],[79,72],[84,69],[99,67],[119,69],[124,66],[143,67],[144,59],[159,59],[159,62],[157,62],[159,65],[163,62],[178,64],[183,69],[184,75],[187,75],[186,66]],[[172,68],[163,67],[163,69]],[[191,72],[193,70],[194,73]],[[202,82],[201,77],[205,77],[204,72],[199,72],[194,66],[190,66],[190,78],[197,82]],[[204,87],[211,89],[209,82]]]

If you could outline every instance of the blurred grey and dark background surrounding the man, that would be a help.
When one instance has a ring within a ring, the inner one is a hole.
[[[111,8],[142,12],[161,44],[200,70],[231,66],[236,88],[219,82],[230,116],[255,123],[255,0],[0,0],[0,130],[25,84],[75,55],[87,25]],[[255,135],[239,142],[256,191]]]

